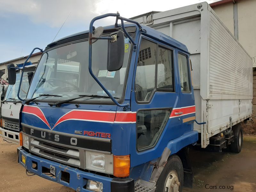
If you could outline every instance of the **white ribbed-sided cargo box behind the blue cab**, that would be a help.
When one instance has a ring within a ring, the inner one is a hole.
[[[206,122],[194,123],[203,148],[211,136],[252,117],[252,58],[206,2],[132,19],[188,47],[196,120]]]

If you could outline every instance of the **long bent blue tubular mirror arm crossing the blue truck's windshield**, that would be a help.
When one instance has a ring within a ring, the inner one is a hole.
[[[93,79],[100,85],[100,87],[105,91],[105,93],[108,95],[108,97],[118,106],[118,107],[123,107],[124,110],[127,108],[127,106],[129,106],[130,104],[127,103],[127,104],[119,104],[116,99],[111,95],[111,93],[104,87],[103,84],[100,83],[99,79],[93,74],[92,72],[92,39],[109,39],[108,38],[103,38],[103,37],[92,37],[92,31],[93,31],[93,23],[96,21],[96,20],[99,20],[99,19],[103,19],[105,17],[119,17],[120,14],[119,13],[107,13],[107,14],[104,14],[104,15],[100,15],[100,16],[97,16],[95,18],[93,18],[90,22],[90,27],[89,27],[89,62],[88,62],[88,69],[89,69],[89,72],[91,74],[91,76],[93,77]],[[112,39],[110,37],[110,39]]]

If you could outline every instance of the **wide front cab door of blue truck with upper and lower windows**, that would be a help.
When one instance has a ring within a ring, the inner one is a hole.
[[[131,110],[136,113],[136,133],[132,148],[136,164],[161,156],[167,143],[182,135],[180,92],[175,49],[142,37],[135,64]],[[132,158],[131,158],[132,159]],[[132,166],[132,162],[131,162]]]

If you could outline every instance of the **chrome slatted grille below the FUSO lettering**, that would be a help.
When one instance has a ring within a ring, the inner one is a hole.
[[[32,153],[43,156],[47,159],[75,167],[81,167],[79,159],[80,153],[78,149],[58,146],[56,144],[53,145],[46,141],[37,140],[35,138],[30,138],[29,149]]]

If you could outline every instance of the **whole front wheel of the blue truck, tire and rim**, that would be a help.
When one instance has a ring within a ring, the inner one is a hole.
[[[156,182],[156,192],[172,192],[172,189],[174,189],[175,192],[178,190],[179,192],[182,192],[183,177],[183,166],[180,157],[177,155],[170,156],[164,166],[164,170]],[[169,188],[166,187],[166,185]]]

